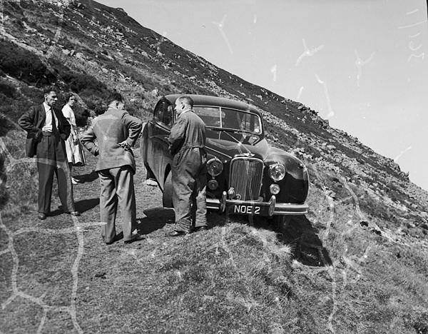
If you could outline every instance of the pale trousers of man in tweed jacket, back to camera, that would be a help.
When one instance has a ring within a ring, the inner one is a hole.
[[[101,182],[100,214],[101,236],[105,243],[116,238],[116,213],[118,204],[121,207],[123,241],[132,239],[132,231],[136,227],[136,195],[133,185],[131,166],[104,169],[98,171]]]

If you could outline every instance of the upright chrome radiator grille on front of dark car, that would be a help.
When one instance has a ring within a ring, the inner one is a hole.
[[[242,201],[256,201],[263,178],[263,161],[256,158],[233,158],[230,161],[229,188]]]

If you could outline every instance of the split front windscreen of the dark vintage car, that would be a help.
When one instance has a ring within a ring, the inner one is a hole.
[[[193,111],[208,128],[224,128],[255,134],[262,132],[260,117],[255,113],[213,106],[195,106]]]

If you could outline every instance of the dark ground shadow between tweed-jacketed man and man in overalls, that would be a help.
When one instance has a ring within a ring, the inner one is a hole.
[[[144,210],[143,213],[146,217],[137,218],[137,230],[140,234],[152,233],[175,221],[172,208],[150,208]]]

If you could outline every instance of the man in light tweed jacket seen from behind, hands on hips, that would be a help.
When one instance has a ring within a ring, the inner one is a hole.
[[[142,121],[123,109],[125,102],[120,93],[108,98],[108,110],[93,119],[92,127],[81,138],[81,143],[94,156],[98,156],[95,171],[101,181],[100,213],[103,241],[117,240],[116,212],[121,207],[123,241],[132,243],[144,236],[133,233],[136,227],[136,196],[133,174],[136,161],[131,146],[141,133]],[[95,142],[96,140],[96,142]]]

